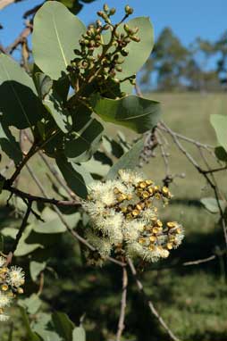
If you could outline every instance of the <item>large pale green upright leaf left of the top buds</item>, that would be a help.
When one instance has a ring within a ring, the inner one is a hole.
[[[79,48],[84,24],[61,3],[47,1],[34,19],[32,46],[38,67],[52,79],[59,79]]]

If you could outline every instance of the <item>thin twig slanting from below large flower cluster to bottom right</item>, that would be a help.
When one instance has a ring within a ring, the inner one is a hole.
[[[136,270],[133,262],[131,262],[131,260],[129,259],[128,263],[129,263],[130,271],[131,271],[131,273],[133,275],[133,278],[135,279],[137,287],[139,288],[139,292],[144,296],[145,300],[147,301],[147,304],[148,304],[148,307],[149,307],[150,311],[153,313],[153,315],[156,316],[156,319],[159,321],[159,323],[166,330],[166,332],[168,333],[169,337],[171,337],[173,341],[180,341],[180,339],[178,337],[175,337],[175,335],[172,333],[172,330],[164,322],[164,319],[162,318],[162,316],[156,311],[156,308],[155,308],[154,304],[147,297],[147,295],[145,293],[145,290],[144,290],[144,287],[143,287],[142,283],[140,282],[140,280],[138,279],[137,270]]]

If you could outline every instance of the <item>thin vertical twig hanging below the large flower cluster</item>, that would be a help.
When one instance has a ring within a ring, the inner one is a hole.
[[[116,341],[121,341],[122,332],[124,329],[126,300],[127,300],[127,287],[128,287],[128,273],[126,267],[122,267],[122,300],[121,300],[121,312],[118,321],[118,329],[116,335]]]

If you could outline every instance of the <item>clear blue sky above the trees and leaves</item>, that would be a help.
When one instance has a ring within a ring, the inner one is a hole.
[[[215,40],[227,29],[227,0],[107,0],[110,6],[118,7],[116,20],[120,17],[125,4],[130,4],[135,10],[135,16],[149,16],[154,24],[156,36],[170,26],[174,33],[189,45],[196,37]],[[21,16],[23,12],[41,0],[25,0],[21,4],[12,4],[0,12],[0,43],[7,46],[23,28]],[[79,17],[85,23],[96,18],[97,10],[105,1],[97,0],[86,4]]]

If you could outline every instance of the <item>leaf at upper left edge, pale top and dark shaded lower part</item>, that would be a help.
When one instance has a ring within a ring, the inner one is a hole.
[[[31,127],[40,119],[41,110],[32,79],[18,62],[0,54],[0,111],[4,123],[18,129]]]

